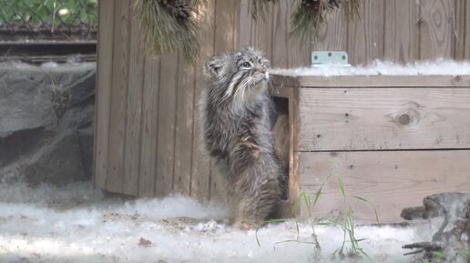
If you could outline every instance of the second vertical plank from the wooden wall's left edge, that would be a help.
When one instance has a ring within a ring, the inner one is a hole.
[[[129,1],[116,2],[114,28],[113,77],[109,124],[107,190],[122,192],[124,179],[124,142],[128,96],[128,15]]]

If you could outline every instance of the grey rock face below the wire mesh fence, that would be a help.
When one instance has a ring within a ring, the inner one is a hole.
[[[0,64],[0,180],[88,180],[96,65]]]

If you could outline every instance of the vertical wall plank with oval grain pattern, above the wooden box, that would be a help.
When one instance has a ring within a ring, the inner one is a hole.
[[[420,1],[419,59],[452,57],[455,0]]]

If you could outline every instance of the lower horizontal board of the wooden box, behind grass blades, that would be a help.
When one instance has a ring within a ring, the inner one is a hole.
[[[375,216],[370,205],[353,196],[369,200],[380,222],[399,222],[401,210],[423,205],[423,197],[437,192],[469,192],[469,158],[469,150],[299,153],[299,177],[301,190],[311,197],[330,177],[314,210],[319,217],[334,217],[342,209],[337,184],[337,175],[341,175],[356,221],[371,222]]]

